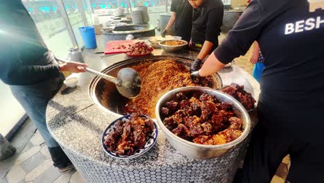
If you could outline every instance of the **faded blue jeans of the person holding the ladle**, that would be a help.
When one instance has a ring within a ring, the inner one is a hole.
[[[49,78],[34,85],[10,85],[13,96],[24,107],[48,148],[60,147],[48,132],[45,114],[48,101],[62,87],[63,80],[64,76],[61,73],[58,78]]]

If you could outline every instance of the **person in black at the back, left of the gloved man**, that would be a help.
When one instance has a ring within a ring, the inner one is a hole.
[[[182,40],[190,42],[191,28],[192,28],[192,7],[188,0],[172,0],[171,3],[172,15],[161,33],[164,37],[170,32],[170,28],[174,24],[176,34],[182,37]]]

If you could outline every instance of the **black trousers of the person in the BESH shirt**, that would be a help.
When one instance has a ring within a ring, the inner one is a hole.
[[[239,182],[270,182],[286,155],[291,158],[287,181],[324,182],[323,109],[323,105],[307,109],[307,105],[259,103],[260,121]]]

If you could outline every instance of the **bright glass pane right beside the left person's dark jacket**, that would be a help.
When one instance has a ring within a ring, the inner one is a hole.
[[[66,58],[72,42],[55,0],[23,0],[22,2],[35,21],[48,49],[51,49],[58,57]]]

